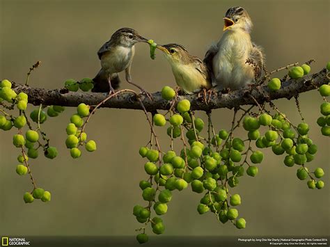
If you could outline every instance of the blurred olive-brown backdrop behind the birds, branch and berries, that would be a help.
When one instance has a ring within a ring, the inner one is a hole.
[[[267,54],[269,70],[294,62],[316,59],[312,72],[329,61],[329,0],[313,1],[0,1],[0,77],[23,83],[36,61],[42,66],[31,75],[31,86],[61,88],[65,79],[92,77],[100,68],[96,52],[120,27],[136,29],[146,38],[165,44],[178,42],[203,58],[207,47],[222,34],[222,17],[231,6],[243,6],[254,23],[253,41]],[[282,75],[282,74],[280,74]],[[132,88],[120,74],[121,88]],[[136,45],[132,66],[134,81],[150,92],[175,86],[171,68],[159,52],[152,61],[145,44]],[[283,165],[283,157],[265,151],[255,178],[244,176],[232,191],[242,196],[239,213],[246,230],[230,223],[221,225],[213,214],[199,216],[201,195],[186,189],[173,194],[164,216],[166,235],[329,235],[329,138],[321,136],[315,121],[322,103],[317,91],[300,97],[311,138],[319,152],[308,164],[322,166],[326,186],[307,189],[296,169]],[[299,114],[293,100],[275,102],[294,123]],[[35,109],[35,106],[29,106]],[[149,138],[142,111],[102,109],[93,116],[86,132],[97,141],[97,151],[73,160],[65,149],[65,127],[75,109],[43,125],[58,147],[54,160],[31,161],[39,186],[52,192],[52,202],[25,205],[22,197],[31,190],[29,177],[18,177],[17,148],[13,132],[0,132],[0,235],[132,235],[141,225],[132,207],[145,203],[139,181],[146,178],[145,160],[139,147]],[[205,119],[205,114],[198,113]],[[217,130],[228,128],[232,112],[214,111]],[[162,147],[168,147],[157,128]],[[239,131],[237,135],[244,134]],[[178,147],[179,144],[176,146]]]

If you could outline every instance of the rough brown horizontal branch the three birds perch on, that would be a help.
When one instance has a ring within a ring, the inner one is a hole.
[[[196,111],[210,111],[211,109],[219,108],[232,109],[235,106],[256,105],[256,101],[262,104],[263,102],[274,99],[290,99],[295,95],[299,95],[299,93],[314,90],[326,83],[329,83],[329,75],[327,75],[327,70],[324,69],[298,80],[285,81],[282,83],[281,89],[276,92],[270,92],[265,84],[258,86],[251,91],[253,97],[251,97],[249,94],[250,90],[247,88],[244,90],[235,90],[228,94],[216,93],[216,96],[212,97],[208,104],[198,99],[196,94],[179,96],[179,99],[188,99],[191,102],[191,110]],[[24,92],[29,95],[29,103],[34,105],[42,104],[44,106],[78,106],[80,103],[93,106],[99,104],[107,97],[104,93],[69,92],[65,88],[47,90],[45,88],[32,88],[18,83],[13,83],[13,90],[15,90],[16,93]],[[152,101],[146,97],[143,98],[143,105],[146,107],[147,111],[154,112],[156,110],[170,109],[171,103],[162,99],[159,92],[152,95],[154,97]],[[123,93],[118,95],[118,97],[113,97],[101,107],[142,110],[139,100],[137,100],[132,93]]]

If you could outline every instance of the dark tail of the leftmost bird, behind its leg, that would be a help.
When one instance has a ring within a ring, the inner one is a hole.
[[[120,79],[117,73],[111,74],[110,80],[113,89],[119,88]],[[110,91],[107,74],[103,70],[100,70],[100,72],[97,73],[96,77],[93,79],[93,82],[94,82],[94,87],[92,89],[92,92],[108,93]]]

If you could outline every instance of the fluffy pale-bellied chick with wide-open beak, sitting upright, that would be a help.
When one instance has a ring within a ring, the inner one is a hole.
[[[251,41],[253,23],[242,7],[229,8],[223,17],[223,35],[203,59],[212,83],[220,90],[237,90],[256,83],[265,65],[262,48]]]

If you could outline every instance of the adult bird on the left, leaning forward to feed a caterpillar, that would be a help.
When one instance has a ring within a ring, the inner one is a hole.
[[[97,56],[101,61],[101,70],[93,79],[92,92],[114,93],[120,83],[118,73],[125,70],[126,81],[150,97],[146,90],[132,82],[130,70],[135,53],[134,45],[137,42],[148,43],[148,40],[139,35],[134,29],[122,28],[114,32],[110,40],[102,45],[97,51]]]

